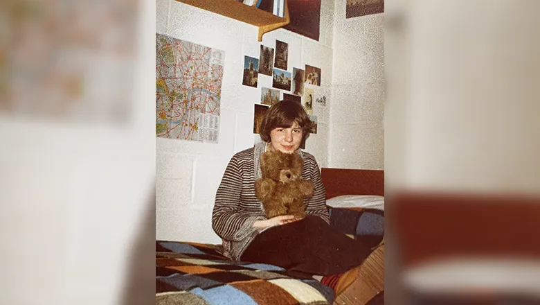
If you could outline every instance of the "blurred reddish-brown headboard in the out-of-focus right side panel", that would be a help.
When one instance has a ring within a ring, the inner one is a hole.
[[[396,192],[389,224],[403,267],[453,256],[540,257],[540,199],[523,194]]]

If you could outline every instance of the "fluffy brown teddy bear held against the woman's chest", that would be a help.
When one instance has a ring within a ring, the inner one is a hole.
[[[267,150],[260,157],[262,177],[255,181],[255,195],[267,218],[280,215],[305,216],[304,198],[313,195],[313,183],[302,179],[303,160],[296,153]]]

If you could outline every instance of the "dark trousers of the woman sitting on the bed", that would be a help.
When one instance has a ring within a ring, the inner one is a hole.
[[[259,234],[240,258],[269,263],[298,276],[334,275],[360,265],[370,247],[330,227],[317,216],[307,216]]]

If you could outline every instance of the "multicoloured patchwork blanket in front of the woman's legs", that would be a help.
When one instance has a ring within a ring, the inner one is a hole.
[[[156,241],[156,304],[332,304],[334,292],[285,269],[234,262],[220,246]]]

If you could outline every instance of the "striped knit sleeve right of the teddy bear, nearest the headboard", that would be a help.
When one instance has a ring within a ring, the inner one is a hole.
[[[326,207],[326,189],[321,179],[321,171],[312,155],[307,154],[304,160],[305,177],[310,177],[313,182],[314,193],[312,198],[306,200],[306,214],[315,215],[323,218],[330,224],[330,214]]]

